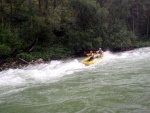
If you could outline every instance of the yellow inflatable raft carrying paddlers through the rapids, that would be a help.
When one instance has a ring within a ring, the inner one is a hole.
[[[87,66],[89,66],[89,65],[91,65],[91,64],[94,64],[94,63],[99,62],[99,61],[102,60],[102,58],[99,57],[99,56],[96,55],[96,54],[94,55],[94,58],[93,58],[92,60],[89,61],[89,58],[90,58],[90,57],[87,57],[87,58],[83,59],[83,60],[82,60],[82,63],[85,64],[85,65],[87,65]]]

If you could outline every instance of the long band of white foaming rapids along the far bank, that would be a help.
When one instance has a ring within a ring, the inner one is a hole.
[[[9,69],[0,72],[0,87],[57,82],[64,76],[72,76],[75,72],[92,71],[93,68],[109,65],[109,63],[115,63],[122,59],[128,61],[129,59],[136,60],[145,57],[150,57],[149,47],[120,53],[106,51],[103,60],[91,66],[85,66],[81,63],[83,58],[77,58],[29,65],[22,69]]]

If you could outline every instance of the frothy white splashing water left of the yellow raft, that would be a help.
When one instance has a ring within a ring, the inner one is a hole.
[[[0,72],[0,86],[53,82],[82,68],[85,66],[75,59],[66,62],[51,61],[46,64],[29,65],[23,69],[9,69]]]

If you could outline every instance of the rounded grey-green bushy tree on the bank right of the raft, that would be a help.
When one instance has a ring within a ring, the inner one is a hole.
[[[110,49],[123,49],[126,47],[132,47],[137,37],[132,31],[129,31],[127,27],[120,21],[111,24],[109,29],[107,47]]]

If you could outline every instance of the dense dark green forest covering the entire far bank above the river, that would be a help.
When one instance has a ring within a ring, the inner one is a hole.
[[[150,46],[150,0],[0,0],[0,62]]]

